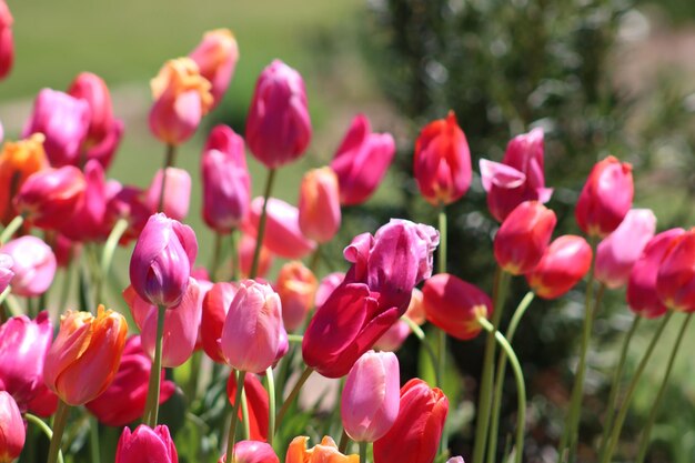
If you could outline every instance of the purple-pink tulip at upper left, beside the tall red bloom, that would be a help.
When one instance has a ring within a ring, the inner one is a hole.
[[[31,118],[22,137],[43,133],[43,148],[51,165],[80,165],[80,148],[87,138],[90,109],[87,101],[60,91],[43,89],[39,92]]]

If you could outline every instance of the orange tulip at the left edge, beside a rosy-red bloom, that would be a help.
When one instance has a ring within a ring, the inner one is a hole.
[[[1,0],[0,0],[1,1]],[[1,8],[1,7],[0,7]],[[19,213],[12,199],[34,172],[47,169],[44,137],[36,133],[26,140],[7,142],[0,153],[0,220],[7,225]]]

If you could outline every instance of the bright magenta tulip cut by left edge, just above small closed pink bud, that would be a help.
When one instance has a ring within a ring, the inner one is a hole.
[[[0,326],[0,390],[12,394],[23,411],[43,385],[43,360],[52,340],[48,312],[36,320],[12,316]]]

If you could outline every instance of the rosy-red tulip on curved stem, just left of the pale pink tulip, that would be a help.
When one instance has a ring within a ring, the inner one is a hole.
[[[526,273],[526,282],[536,295],[557,299],[588,272],[592,255],[592,248],[585,239],[562,235],[547,246],[538,264]]]

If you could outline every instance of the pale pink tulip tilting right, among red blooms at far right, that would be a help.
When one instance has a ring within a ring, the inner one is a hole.
[[[615,290],[627,283],[629,271],[656,231],[656,217],[648,209],[633,209],[617,229],[596,248],[594,278]]]

